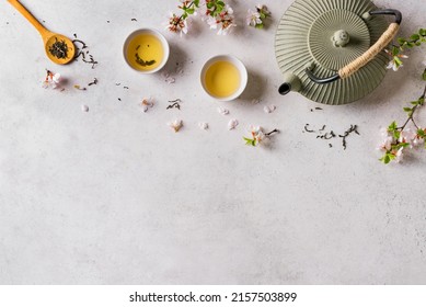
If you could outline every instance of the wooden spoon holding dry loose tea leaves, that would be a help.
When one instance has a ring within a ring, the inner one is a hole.
[[[76,55],[74,44],[70,38],[61,34],[53,33],[44,27],[24,5],[18,0],[8,0],[15,9],[30,21],[42,35],[47,57],[56,64],[68,64]]]

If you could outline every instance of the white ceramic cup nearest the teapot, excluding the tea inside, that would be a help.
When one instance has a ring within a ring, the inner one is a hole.
[[[229,96],[216,96],[215,94],[209,92],[209,90],[206,87],[206,73],[207,73],[208,69],[210,68],[210,66],[214,65],[215,62],[218,62],[218,61],[228,61],[228,62],[232,64],[240,72],[240,87],[235,90],[235,92],[233,92]],[[232,101],[232,100],[239,98],[243,93],[243,91],[245,90],[245,87],[247,84],[247,79],[249,79],[249,75],[247,75],[247,70],[246,70],[244,64],[240,59],[238,59],[237,57],[231,56],[231,55],[220,55],[220,56],[215,56],[215,57],[210,58],[204,65],[204,67],[202,69],[202,73],[200,73],[200,81],[202,81],[203,89],[206,91],[206,93],[210,98],[218,100],[218,101]]]

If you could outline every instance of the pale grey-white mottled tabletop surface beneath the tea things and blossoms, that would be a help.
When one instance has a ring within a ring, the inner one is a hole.
[[[37,32],[0,3],[1,284],[426,282],[426,154],[384,167],[376,151],[380,127],[403,121],[404,102],[421,94],[424,47],[369,96],[322,106],[277,93],[274,35],[290,0],[264,1],[274,14],[265,31],[244,26],[257,1],[234,0],[232,35],[198,19],[184,38],[162,24],[175,0],[22,2],[50,30],[76,33],[100,64],[49,62]],[[419,2],[376,4],[400,9],[406,35],[426,26]],[[126,67],[124,39],[143,26],[169,39],[175,83]],[[250,72],[247,90],[229,103],[198,82],[203,64],[223,53]],[[41,87],[46,68],[68,79],[65,91]],[[88,91],[73,89],[93,78]],[[149,95],[157,104],[143,113],[138,103]],[[182,110],[166,111],[177,98]],[[276,112],[264,113],[270,104]],[[184,121],[179,134],[166,126],[174,118]],[[231,118],[240,125],[229,132]],[[307,123],[338,133],[357,124],[361,136],[346,151],[338,139],[329,148],[302,133]],[[250,125],[281,133],[270,148],[251,148],[242,140]]]

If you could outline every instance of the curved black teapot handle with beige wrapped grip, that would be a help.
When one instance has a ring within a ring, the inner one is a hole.
[[[376,42],[375,45],[372,45],[364,55],[355,59],[354,61],[349,62],[345,67],[338,70],[338,72],[332,77],[329,78],[318,78],[315,75],[313,75],[311,68],[307,68],[306,72],[308,77],[315,83],[325,84],[331,83],[333,81],[337,81],[339,79],[346,79],[349,78],[352,75],[357,72],[360,68],[366,66],[368,62],[370,62],[382,49],[384,49],[396,36],[398,31],[400,30],[400,24],[402,21],[402,14],[398,10],[378,10],[378,11],[370,11],[370,15],[394,15],[395,21],[391,23],[388,27],[388,30],[382,34],[382,36],[379,38],[379,41]]]

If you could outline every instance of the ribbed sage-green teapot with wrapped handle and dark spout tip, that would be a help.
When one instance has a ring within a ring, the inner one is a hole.
[[[395,21],[388,26],[383,15]],[[283,15],[275,53],[285,95],[296,91],[324,104],[346,104],[383,80],[402,14],[369,0],[296,0]]]

